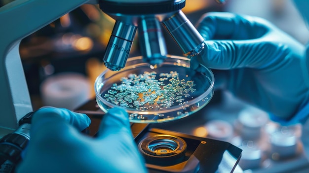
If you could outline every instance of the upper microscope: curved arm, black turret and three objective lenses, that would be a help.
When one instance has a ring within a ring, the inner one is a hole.
[[[195,55],[204,47],[202,36],[181,12],[185,0],[14,0],[0,8],[1,128],[16,129],[18,120],[33,109],[19,55],[20,41],[84,3],[100,4],[102,11],[116,20],[103,59],[109,69],[124,67],[137,26],[143,56],[150,63],[159,64],[166,55],[158,22],[163,23],[184,54]],[[144,6],[146,10],[138,12]]]

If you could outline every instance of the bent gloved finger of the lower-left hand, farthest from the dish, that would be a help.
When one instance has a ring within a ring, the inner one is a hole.
[[[82,113],[76,113],[65,108],[42,107],[32,118],[33,128],[39,128],[46,123],[66,122],[77,130],[82,131],[90,125],[90,118]]]

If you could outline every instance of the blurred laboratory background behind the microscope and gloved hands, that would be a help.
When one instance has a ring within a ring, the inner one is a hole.
[[[9,2],[0,0],[0,6]],[[187,0],[182,11],[193,24],[212,11],[259,16],[302,44],[309,42],[309,28],[292,0],[227,0],[224,4]],[[107,69],[102,58],[114,24],[98,5],[83,4],[21,41],[19,53],[34,110],[47,105],[103,113],[95,102],[94,82]],[[163,35],[167,53],[183,56],[168,33]],[[130,57],[141,55],[138,36]],[[301,134],[300,124],[280,126],[269,120],[267,112],[226,91],[215,90],[209,104],[189,117],[151,126],[227,141],[241,148],[238,165],[244,173],[309,172],[300,142],[300,137],[308,134]]]

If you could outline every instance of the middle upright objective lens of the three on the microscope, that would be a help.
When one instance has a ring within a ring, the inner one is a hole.
[[[144,60],[151,65],[161,64],[167,51],[159,21],[155,17],[141,19],[138,35]]]

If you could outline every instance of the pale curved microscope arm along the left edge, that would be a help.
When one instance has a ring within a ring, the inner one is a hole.
[[[19,55],[21,39],[88,0],[15,0],[0,7],[0,136],[32,111]],[[94,3],[96,0],[90,0]]]

